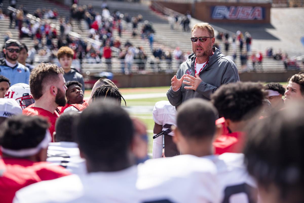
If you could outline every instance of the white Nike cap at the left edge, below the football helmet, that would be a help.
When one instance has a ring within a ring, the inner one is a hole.
[[[22,108],[15,99],[0,98],[0,117],[12,117],[22,114]]]

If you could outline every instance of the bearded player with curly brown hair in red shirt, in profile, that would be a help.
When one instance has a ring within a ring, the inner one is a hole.
[[[50,133],[55,131],[56,119],[60,116],[58,106],[65,106],[65,80],[64,70],[54,64],[41,63],[31,72],[29,87],[32,97],[35,99],[33,106],[23,110],[24,115],[40,115],[47,117],[50,122]]]

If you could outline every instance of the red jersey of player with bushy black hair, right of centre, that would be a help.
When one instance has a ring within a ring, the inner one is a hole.
[[[213,142],[214,153],[222,154],[225,152],[242,153],[245,144],[244,132],[232,132],[221,135]]]

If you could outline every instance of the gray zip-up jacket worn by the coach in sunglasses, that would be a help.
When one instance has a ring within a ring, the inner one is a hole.
[[[187,84],[182,84],[178,91],[173,91],[171,87],[167,92],[167,97],[171,105],[178,106],[190,98],[210,100],[211,94],[222,84],[240,81],[235,63],[227,58],[220,50],[216,49],[216,47],[212,47],[212,50],[214,54],[209,57],[207,67],[199,74],[202,82],[196,91],[185,89],[185,86],[190,86]],[[190,74],[195,77],[195,58],[195,54],[192,53],[188,56],[188,59],[179,66],[176,73],[178,79],[184,74]]]

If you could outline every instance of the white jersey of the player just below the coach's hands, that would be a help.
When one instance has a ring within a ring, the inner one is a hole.
[[[176,109],[169,101],[158,101],[153,108],[153,120],[158,125],[164,126],[165,124],[176,126]],[[163,127],[163,131],[168,128]],[[174,132],[168,135],[174,136]]]

